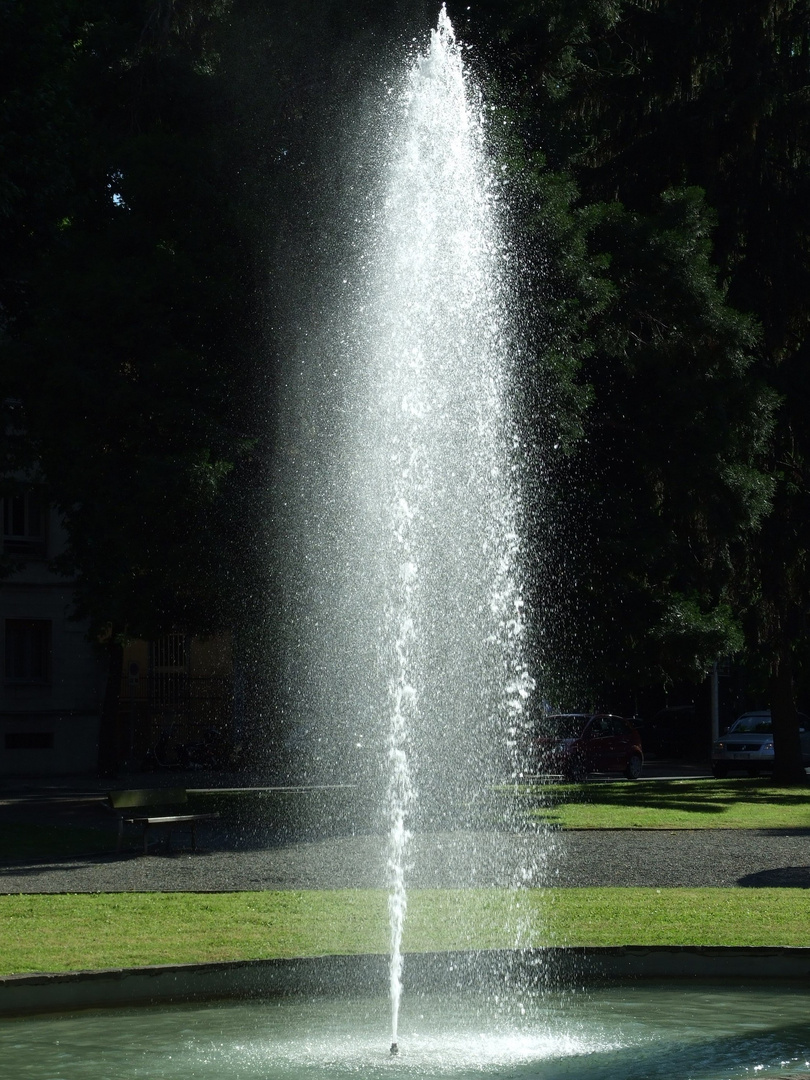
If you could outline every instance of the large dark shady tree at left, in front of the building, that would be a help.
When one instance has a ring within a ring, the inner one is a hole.
[[[31,109],[12,94],[5,138],[17,172],[48,183],[28,195],[6,176],[3,396],[25,432],[6,461],[62,511],[59,566],[109,643],[113,688],[124,636],[233,619],[227,477],[247,442],[254,283],[211,43],[227,5],[54,0],[27,22],[17,8],[3,15],[44,104],[24,138]]]

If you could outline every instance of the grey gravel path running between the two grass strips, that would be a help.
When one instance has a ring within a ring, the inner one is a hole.
[[[211,839],[214,839],[213,837]],[[352,836],[147,856],[85,856],[0,867],[1,893],[381,888],[384,839]],[[810,888],[810,829],[437,833],[409,848],[411,888],[546,883]],[[534,867],[528,872],[527,868]]]

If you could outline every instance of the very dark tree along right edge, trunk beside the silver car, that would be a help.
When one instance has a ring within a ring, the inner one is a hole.
[[[567,98],[568,126],[590,134],[573,165],[584,198],[615,195],[646,212],[667,185],[700,185],[716,214],[712,258],[728,301],[761,327],[750,377],[768,388],[764,402],[778,402],[759,456],[773,495],[756,538],[738,541],[735,606],[750,653],[769,669],[774,777],[799,783],[793,681],[810,606],[808,27],[805,0],[752,0],[742,13],[696,0],[617,5],[596,48],[578,50]],[[768,429],[755,413],[752,431]]]

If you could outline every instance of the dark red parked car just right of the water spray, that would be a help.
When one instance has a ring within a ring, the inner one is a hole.
[[[583,780],[589,772],[621,772],[636,780],[644,768],[642,738],[622,716],[561,713],[538,721],[531,740],[532,767]]]

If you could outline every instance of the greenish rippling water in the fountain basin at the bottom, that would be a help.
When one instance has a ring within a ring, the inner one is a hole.
[[[393,1056],[388,1022],[357,995],[86,1010],[0,1021],[0,1061],[26,1080],[810,1077],[810,988],[791,982],[411,995]]]

